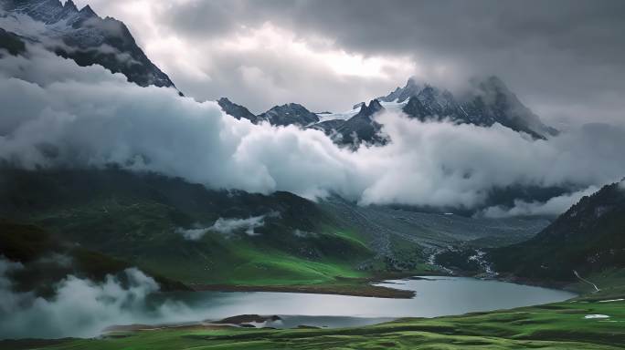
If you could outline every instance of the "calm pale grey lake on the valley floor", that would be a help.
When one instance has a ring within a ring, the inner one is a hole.
[[[412,299],[384,299],[307,293],[196,292],[169,293],[166,297],[187,305],[198,317],[196,321],[261,314],[281,316],[281,321],[264,324],[267,326],[342,327],[400,317],[435,317],[554,303],[575,296],[565,291],[464,277],[422,277],[377,285],[411,290],[417,295]]]

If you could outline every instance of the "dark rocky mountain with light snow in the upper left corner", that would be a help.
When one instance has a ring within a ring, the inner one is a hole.
[[[72,0],[65,5],[59,0],[0,0],[0,7],[19,22],[15,35],[38,41],[79,66],[100,65],[142,87],[175,88],[145,56],[127,26],[111,17],[101,18],[89,5],[78,9]],[[30,30],[19,15],[42,22],[46,30]]]

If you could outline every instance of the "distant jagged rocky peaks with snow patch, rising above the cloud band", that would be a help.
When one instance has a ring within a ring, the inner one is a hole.
[[[449,90],[429,84],[419,85],[414,77],[404,88],[396,88],[387,96],[373,99],[369,105],[361,102],[344,113],[312,113],[302,105],[290,103],[271,108],[253,117],[247,108],[233,104],[227,98],[217,101],[235,118],[247,118],[254,123],[267,120],[271,125],[296,125],[322,130],[335,143],[357,149],[360,143],[384,145],[388,137],[380,135],[381,125],[373,116],[382,109],[401,110],[421,121],[449,119],[458,124],[491,127],[501,124],[523,132],[534,139],[547,139],[557,130],[547,127],[529,108],[503,84],[498,77],[472,80],[471,88],[460,97]]]

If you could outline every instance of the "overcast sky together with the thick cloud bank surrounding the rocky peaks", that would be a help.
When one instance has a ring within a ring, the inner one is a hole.
[[[544,202],[489,208],[491,216],[557,214],[623,178],[619,4],[577,5],[556,20],[549,8],[484,15],[489,8],[475,2],[383,3],[95,3],[131,26],[187,98],[29,45],[28,55],[0,59],[0,160],[28,169],[123,164],[216,189],[475,210],[490,205],[493,189],[567,189]],[[255,125],[194,100],[340,110],[411,75],[459,89],[482,74],[501,76],[552,125],[566,115],[571,128],[532,139],[499,124],[423,123],[387,111],[376,120],[392,141],[352,151],[319,130]]]

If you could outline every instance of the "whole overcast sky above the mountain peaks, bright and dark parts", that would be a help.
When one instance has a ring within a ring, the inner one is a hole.
[[[185,94],[253,112],[341,111],[413,75],[497,75],[560,128],[625,110],[625,1],[76,2],[125,22]]]

